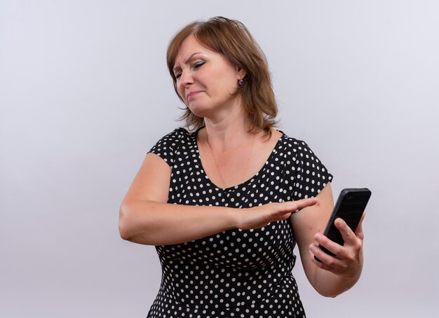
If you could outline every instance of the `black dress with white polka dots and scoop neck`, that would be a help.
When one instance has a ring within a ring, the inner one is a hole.
[[[262,169],[243,184],[218,188],[203,170],[196,132],[178,128],[151,148],[172,168],[168,203],[240,208],[316,196],[332,175],[303,142],[285,134]],[[292,276],[290,220],[257,230],[224,230],[157,246],[158,295],[147,317],[305,317]]]

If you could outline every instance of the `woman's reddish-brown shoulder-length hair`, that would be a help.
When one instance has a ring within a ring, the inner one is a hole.
[[[264,130],[271,136],[271,127],[276,125],[278,108],[271,85],[268,62],[248,29],[239,21],[223,17],[192,22],[178,32],[170,41],[166,62],[177,92],[177,79],[173,71],[175,59],[184,39],[193,35],[202,46],[221,53],[232,64],[245,70],[244,84],[238,86],[236,95],[241,97],[245,113],[252,125],[250,130]],[[177,92],[178,95],[178,92]],[[180,100],[183,99],[178,95]],[[186,108],[180,120],[185,120],[189,130],[204,125],[204,119]]]

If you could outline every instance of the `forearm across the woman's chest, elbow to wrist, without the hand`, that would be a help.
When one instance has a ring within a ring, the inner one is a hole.
[[[235,227],[234,209],[173,205],[147,200],[122,203],[119,232],[147,245],[179,244]]]

